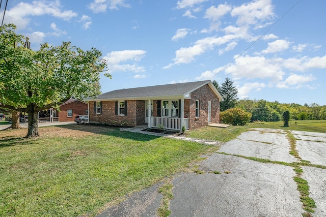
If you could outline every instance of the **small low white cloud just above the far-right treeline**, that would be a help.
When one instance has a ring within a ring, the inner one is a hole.
[[[278,88],[300,88],[304,83],[315,80],[316,78],[313,75],[290,75],[285,81],[279,82],[276,86]]]

